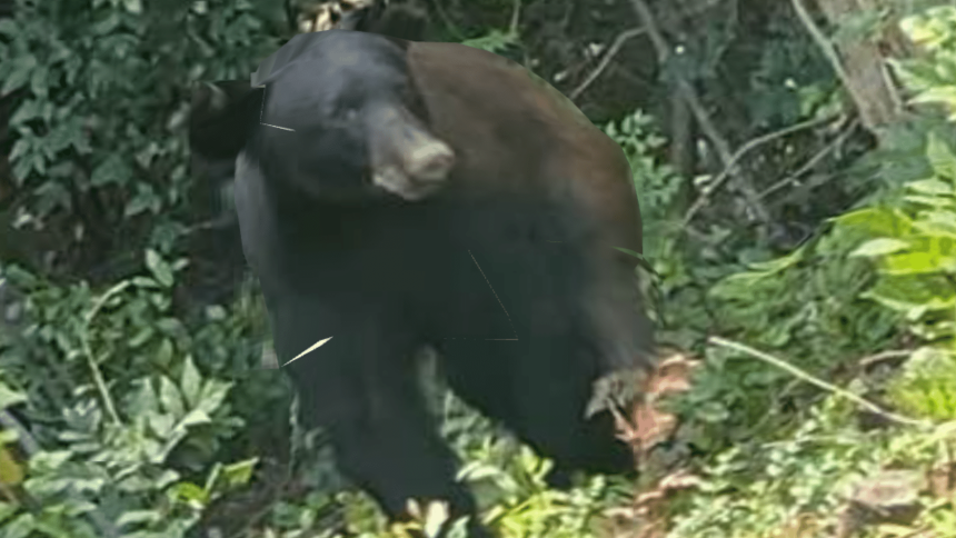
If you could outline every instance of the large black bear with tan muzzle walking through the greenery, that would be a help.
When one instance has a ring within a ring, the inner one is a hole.
[[[296,36],[217,91],[193,151],[238,156],[279,363],[331,337],[285,368],[387,514],[475,510],[417,386],[422,346],[555,460],[554,484],[629,470],[609,414],[585,411],[601,376],[650,363],[636,263],[616,249],[640,252],[640,212],[621,149],[570,101],[489,52],[347,30]]]

